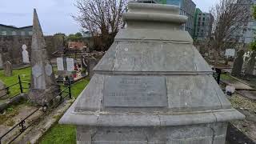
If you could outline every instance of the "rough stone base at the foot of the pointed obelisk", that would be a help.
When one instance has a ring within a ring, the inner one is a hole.
[[[57,97],[59,93],[59,86],[51,86],[46,90],[30,89],[28,98],[30,99],[30,102],[43,106],[45,104],[49,105],[50,103],[53,103],[53,99]]]

